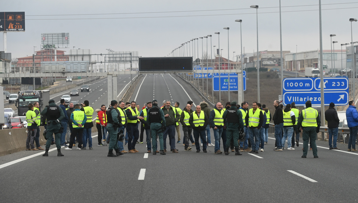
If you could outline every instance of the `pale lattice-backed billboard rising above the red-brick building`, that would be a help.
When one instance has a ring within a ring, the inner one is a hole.
[[[42,33],[41,44],[44,49],[69,48],[69,33]]]

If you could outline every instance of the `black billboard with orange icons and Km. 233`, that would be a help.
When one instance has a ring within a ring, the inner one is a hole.
[[[0,12],[0,32],[24,32],[25,12]]]

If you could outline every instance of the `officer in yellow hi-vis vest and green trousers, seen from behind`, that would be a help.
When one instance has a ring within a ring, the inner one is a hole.
[[[321,119],[316,109],[312,108],[310,100],[306,101],[306,109],[302,110],[302,113],[298,117],[297,128],[301,132],[303,129],[303,155],[302,158],[306,158],[308,151],[308,141],[311,140],[311,148],[313,152],[313,158],[318,158],[316,138],[321,125]]]

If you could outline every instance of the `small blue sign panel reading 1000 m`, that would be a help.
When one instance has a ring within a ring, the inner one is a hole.
[[[284,91],[313,90],[313,80],[311,78],[285,78],[283,83]]]

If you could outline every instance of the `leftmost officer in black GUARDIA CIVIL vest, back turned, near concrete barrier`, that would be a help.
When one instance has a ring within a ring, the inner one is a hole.
[[[57,147],[57,156],[63,157],[64,155],[61,153],[61,122],[65,117],[63,110],[55,104],[55,100],[50,99],[48,101],[48,107],[44,108],[41,112],[42,116],[46,116],[47,119],[47,133],[46,133],[46,149],[43,154],[44,157],[48,157],[48,150],[50,149],[52,134],[55,134],[55,143]],[[64,130],[64,129],[63,129]]]

